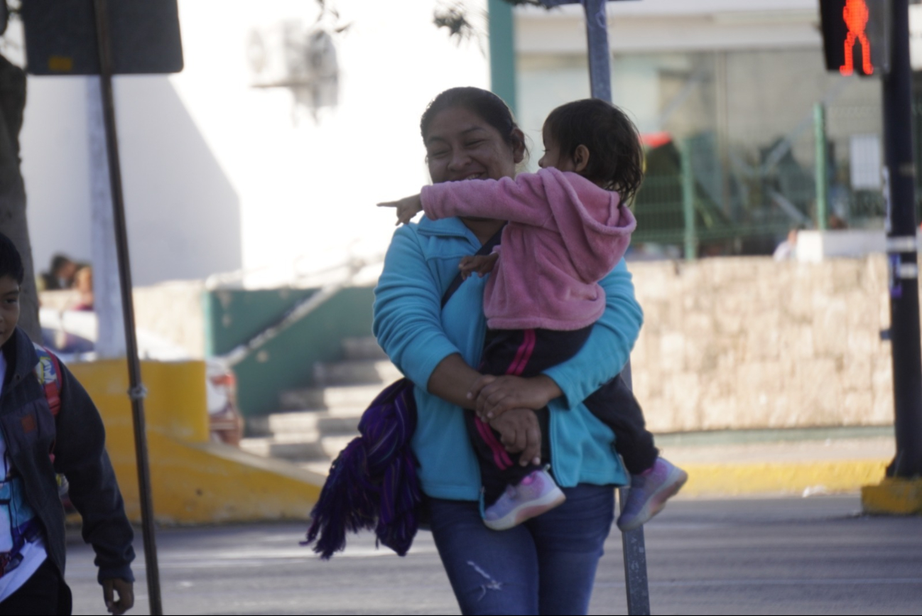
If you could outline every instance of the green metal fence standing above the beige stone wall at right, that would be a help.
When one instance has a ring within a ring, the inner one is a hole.
[[[875,164],[882,165],[874,129],[880,113],[876,106],[818,104],[813,125],[787,136],[739,139],[745,147],[727,139],[721,148],[710,131],[648,149],[646,179],[633,204],[634,245],[673,245],[690,258],[765,254],[791,228],[882,229],[882,185],[874,181]],[[922,95],[914,120],[922,170]],[[854,126],[861,127],[857,134]],[[861,160],[866,184],[857,179]],[[922,205],[920,172],[916,202]]]

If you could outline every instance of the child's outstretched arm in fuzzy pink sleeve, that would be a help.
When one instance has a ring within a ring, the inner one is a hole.
[[[433,220],[469,216],[540,227],[552,218],[548,195],[537,173],[519,173],[515,179],[432,184],[423,187],[420,201],[426,216]]]

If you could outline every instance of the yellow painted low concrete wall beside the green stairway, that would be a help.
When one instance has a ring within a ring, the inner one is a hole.
[[[125,512],[138,521],[135,440],[125,393],[125,362],[77,363],[70,369],[100,409],[106,449],[124,495]],[[158,522],[307,519],[323,486],[323,475],[209,441],[204,362],[144,361],[141,373],[149,392],[145,416]]]

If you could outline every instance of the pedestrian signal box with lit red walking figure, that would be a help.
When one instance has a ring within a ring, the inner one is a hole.
[[[874,76],[890,70],[889,0],[820,0],[826,70]]]

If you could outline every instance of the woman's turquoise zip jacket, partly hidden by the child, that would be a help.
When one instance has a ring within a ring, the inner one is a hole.
[[[479,247],[477,237],[459,219],[423,218],[419,224],[405,225],[394,234],[374,290],[374,335],[396,367],[417,385],[419,421],[412,445],[420,461],[422,490],[433,498],[476,501],[480,493],[477,458],[462,410],[426,390],[432,371],[453,353],[460,353],[468,365],[479,364],[487,278],[467,278],[444,310],[441,307],[461,257],[473,255]],[[553,473],[562,487],[627,480],[612,447],[614,434],[583,400],[621,372],[644,315],[623,261],[600,284],[606,310],[592,335],[573,359],[545,371],[563,391],[550,402]]]

